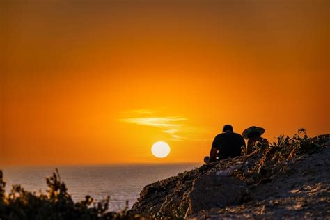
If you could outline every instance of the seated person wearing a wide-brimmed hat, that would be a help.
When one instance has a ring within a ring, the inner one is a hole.
[[[251,154],[251,152],[255,150],[254,148],[256,147],[257,143],[265,143],[265,144],[268,143],[267,139],[264,139],[261,136],[264,133],[265,133],[265,129],[256,126],[251,126],[244,130],[243,137],[244,139],[248,140],[246,149],[244,151],[245,155]]]

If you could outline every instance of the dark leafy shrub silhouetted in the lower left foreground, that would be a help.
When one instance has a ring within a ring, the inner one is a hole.
[[[0,219],[138,219],[129,214],[128,206],[121,212],[107,212],[109,196],[95,201],[86,196],[84,201],[74,203],[65,183],[56,171],[46,178],[47,194],[32,193],[19,184],[13,185],[9,194],[5,194],[5,182],[0,171]]]

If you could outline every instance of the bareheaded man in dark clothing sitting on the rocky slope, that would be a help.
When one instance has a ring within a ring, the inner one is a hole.
[[[219,161],[221,159],[228,159],[242,155],[242,149],[245,148],[245,141],[243,136],[234,133],[233,126],[223,126],[222,133],[215,136],[212,143],[210,157],[205,157],[204,162]]]

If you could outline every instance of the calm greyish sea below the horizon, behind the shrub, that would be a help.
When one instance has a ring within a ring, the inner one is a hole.
[[[96,199],[110,196],[110,210],[120,210],[129,201],[132,207],[146,184],[162,180],[200,164],[166,164],[136,166],[59,166],[61,179],[68,187],[74,201],[86,195]],[[29,191],[45,192],[45,177],[52,175],[54,167],[8,167],[3,168],[6,192],[12,184],[21,184]]]

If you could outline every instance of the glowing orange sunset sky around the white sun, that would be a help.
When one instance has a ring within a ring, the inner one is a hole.
[[[0,4],[0,165],[201,162],[226,123],[330,133],[329,1]]]

